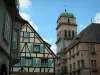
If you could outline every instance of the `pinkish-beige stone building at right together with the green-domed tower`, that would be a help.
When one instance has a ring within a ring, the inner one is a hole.
[[[57,75],[100,75],[100,24],[91,23],[77,35],[72,13],[57,20]]]

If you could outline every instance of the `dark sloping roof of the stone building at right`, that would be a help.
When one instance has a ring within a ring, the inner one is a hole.
[[[82,30],[73,42],[66,47],[67,51],[73,48],[78,43],[100,43],[100,23],[91,23]]]

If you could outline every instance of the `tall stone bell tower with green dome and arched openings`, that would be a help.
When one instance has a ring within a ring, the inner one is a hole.
[[[66,11],[61,13],[57,20],[57,54],[68,47],[77,35],[76,18],[72,13]]]

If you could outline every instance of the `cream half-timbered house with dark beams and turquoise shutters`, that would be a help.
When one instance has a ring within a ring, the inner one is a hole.
[[[11,68],[11,75],[54,75],[56,55],[51,45],[29,23],[20,35],[20,62]]]

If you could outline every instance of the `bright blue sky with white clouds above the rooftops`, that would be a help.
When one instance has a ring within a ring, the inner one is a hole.
[[[56,21],[65,11],[76,17],[79,33],[92,22],[100,23],[99,0],[19,0],[20,15],[28,20],[56,53]]]

